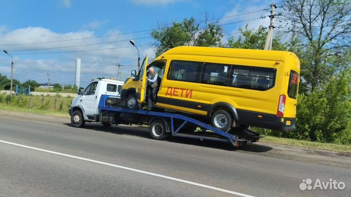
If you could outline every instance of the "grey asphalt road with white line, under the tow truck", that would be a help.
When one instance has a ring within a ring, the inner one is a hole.
[[[350,196],[351,159],[267,143],[149,138],[145,127],[0,111],[0,196]],[[54,152],[50,152],[54,151]],[[153,174],[155,173],[155,174]],[[343,190],[301,191],[303,179]]]

